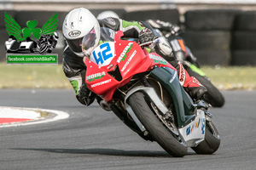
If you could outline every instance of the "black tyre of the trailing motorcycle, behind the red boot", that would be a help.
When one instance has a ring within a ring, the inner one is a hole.
[[[204,100],[211,104],[213,107],[222,107],[225,103],[224,96],[219,92],[218,88],[212,85],[206,77],[202,77],[197,74],[195,71],[192,71],[189,67],[186,68],[191,77],[195,77],[202,85],[207,88],[207,94],[205,95]]]

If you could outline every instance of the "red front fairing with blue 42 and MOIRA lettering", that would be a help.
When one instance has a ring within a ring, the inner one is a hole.
[[[84,57],[87,87],[105,101],[110,101],[116,89],[130,82],[134,75],[149,71],[154,65],[174,69],[158,54],[148,54],[137,42],[121,40],[122,36],[123,32],[117,31],[114,42],[104,42],[95,48],[90,59]]]

